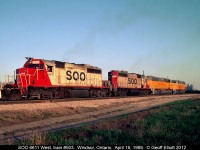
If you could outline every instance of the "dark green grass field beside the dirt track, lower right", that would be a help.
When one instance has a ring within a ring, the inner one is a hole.
[[[55,133],[25,145],[200,145],[200,99],[161,105]]]

